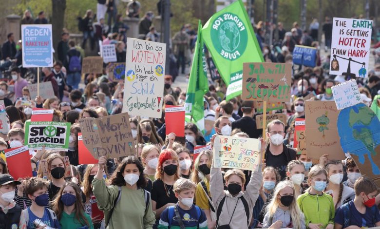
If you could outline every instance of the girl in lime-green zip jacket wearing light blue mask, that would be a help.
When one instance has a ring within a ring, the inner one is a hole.
[[[310,188],[300,195],[297,204],[305,215],[305,226],[309,229],[333,229],[335,206],[331,195],[323,193],[327,172],[320,165],[311,168],[307,183]]]

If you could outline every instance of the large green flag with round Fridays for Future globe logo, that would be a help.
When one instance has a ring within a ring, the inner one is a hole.
[[[220,76],[227,85],[227,100],[242,94],[243,63],[264,62],[259,43],[241,0],[214,14],[202,36]]]

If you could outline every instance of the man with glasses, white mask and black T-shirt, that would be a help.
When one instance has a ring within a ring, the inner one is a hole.
[[[291,160],[296,159],[296,151],[284,144],[285,124],[276,119],[266,126],[266,137],[269,144],[265,151],[266,166],[275,168],[281,175],[281,180],[286,178],[286,166]]]

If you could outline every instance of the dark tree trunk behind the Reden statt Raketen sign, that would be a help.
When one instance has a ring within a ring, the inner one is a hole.
[[[57,45],[61,39],[63,23],[65,19],[66,0],[52,0],[52,28],[53,28],[53,48],[56,50],[55,57],[57,58]]]

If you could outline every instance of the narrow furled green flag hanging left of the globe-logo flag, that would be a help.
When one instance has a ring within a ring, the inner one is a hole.
[[[206,64],[202,38],[202,24],[201,21],[199,21],[197,41],[195,43],[194,57],[192,59],[189,85],[186,94],[185,114],[187,115],[186,121],[195,123],[201,131],[205,129],[203,95],[209,90]]]

